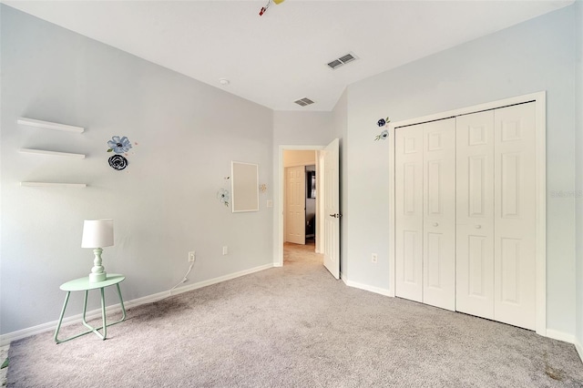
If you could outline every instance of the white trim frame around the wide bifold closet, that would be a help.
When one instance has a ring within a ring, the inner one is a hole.
[[[524,96],[501,99],[472,107],[462,107],[424,117],[415,117],[389,123],[389,295],[395,295],[395,223],[394,223],[394,128],[410,126],[447,117],[456,117],[482,110],[507,107],[534,101],[537,107],[537,333],[547,336],[547,93],[545,91]]]

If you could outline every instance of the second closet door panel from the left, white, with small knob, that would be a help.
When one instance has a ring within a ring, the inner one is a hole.
[[[424,124],[423,301],[455,310],[455,118]]]

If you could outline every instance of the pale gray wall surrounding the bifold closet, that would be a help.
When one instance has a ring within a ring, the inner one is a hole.
[[[343,260],[350,281],[389,288],[389,150],[373,141],[380,117],[399,121],[547,90],[547,190],[575,189],[577,23],[571,5],[348,87]],[[574,198],[547,196],[547,328],[571,337],[574,213]]]

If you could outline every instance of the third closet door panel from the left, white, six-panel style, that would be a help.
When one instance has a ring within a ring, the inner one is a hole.
[[[494,319],[494,111],[456,119],[455,310]]]

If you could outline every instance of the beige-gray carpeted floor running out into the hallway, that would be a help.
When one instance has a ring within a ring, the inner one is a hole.
[[[8,386],[583,386],[573,345],[347,287],[310,247],[286,246],[283,268],[131,309],[107,333],[13,342]]]

